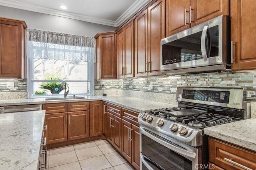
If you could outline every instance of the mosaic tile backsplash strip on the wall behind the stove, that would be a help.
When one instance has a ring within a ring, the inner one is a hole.
[[[179,76],[97,80],[95,90],[121,89],[176,94],[177,86],[245,87],[247,100],[256,100],[256,72],[207,73]]]

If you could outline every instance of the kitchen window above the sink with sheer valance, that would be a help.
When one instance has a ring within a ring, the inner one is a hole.
[[[92,95],[94,88],[95,40],[28,29],[28,89],[30,98]]]

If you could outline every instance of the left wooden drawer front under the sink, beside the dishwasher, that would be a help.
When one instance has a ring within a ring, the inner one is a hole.
[[[68,111],[67,103],[54,103],[54,104],[44,104],[43,110],[45,113],[63,113]]]

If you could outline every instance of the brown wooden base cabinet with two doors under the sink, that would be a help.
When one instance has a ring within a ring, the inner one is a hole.
[[[89,102],[44,104],[46,144],[89,137]]]

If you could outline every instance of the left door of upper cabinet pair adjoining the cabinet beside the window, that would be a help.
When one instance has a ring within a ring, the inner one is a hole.
[[[117,78],[124,78],[124,28],[116,33],[116,67]]]

